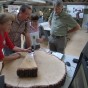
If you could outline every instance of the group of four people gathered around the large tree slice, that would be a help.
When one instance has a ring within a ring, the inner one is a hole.
[[[40,48],[45,35],[39,30],[38,20],[39,17],[32,13],[29,5],[22,5],[17,15],[0,14],[0,61],[18,59],[21,57],[19,52],[31,52],[31,48]],[[64,53],[67,33],[80,29],[79,24],[63,11],[63,3],[60,1],[54,3],[49,24],[50,50]],[[71,29],[68,30],[68,27]],[[25,36],[24,49],[21,48],[21,34]]]

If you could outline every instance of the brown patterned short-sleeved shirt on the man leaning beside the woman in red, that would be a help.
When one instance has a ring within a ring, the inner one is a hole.
[[[16,20],[12,23],[12,29],[10,30],[9,37],[14,45],[21,47],[21,34],[28,31],[28,22],[19,21],[17,16]]]

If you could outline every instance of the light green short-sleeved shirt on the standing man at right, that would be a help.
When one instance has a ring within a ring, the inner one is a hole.
[[[66,36],[68,28],[72,29],[77,25],[77,22],[64,11],[60,15],[51,13],[49,20],[51,20],[50,33],[55,36]]]

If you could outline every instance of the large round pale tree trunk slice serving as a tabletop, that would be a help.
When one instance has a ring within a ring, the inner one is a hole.
[[[35,51],[35,61],[38,66],[36,78],[19,78],[17,68],[22,58],[6,63],[2,74],[5,75],[7,88],[59,88],[66,77],[66,68],[63,61],[42,50]]]

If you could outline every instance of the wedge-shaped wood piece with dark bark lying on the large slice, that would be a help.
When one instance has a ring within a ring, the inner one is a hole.
[[[37,77],[38,67],[34,60],[33,53],[27,54],[17,69],[19,77]]]

